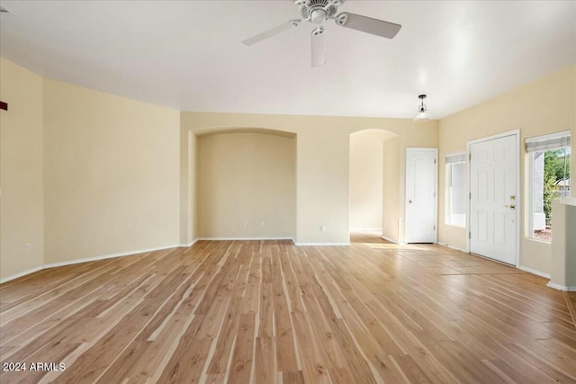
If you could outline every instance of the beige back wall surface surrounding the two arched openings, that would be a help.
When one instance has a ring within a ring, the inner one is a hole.
[[[415,124],[406,119],[377,119],[251,113],[182,112],[180,139],[180,238],[192,244],[199,238],[196,219],[195,140],[207,127],[272,128],[295,135],[296,225],[299,246],[349,244],[350,135],[365,129],[393,132],[384,142],[383,236],[399,241],[403,219],[403,166],[406,147],[436,147],[437,121]],[[292,132],[292,133],[289,133]],[[202,134],[201,134],[202,136]],[[386,189],[389,188],[390,191]],[[390,193],[387,193],[390,192]],[[390,196],[388,199],[386,196]],[[395,196],[395,197],[394,197]],[[386,205],[388,202],[388,205]],[[387,219],[388,218],[388,219]]]

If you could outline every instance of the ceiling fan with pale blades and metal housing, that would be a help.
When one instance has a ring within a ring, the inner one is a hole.
[[[295,0],[302,19],[293,19],[278,25],[271,30],[258,33],[247,40],[242,41],[246,45],[256,44],[262,40],[271,38],[278,33],[298,27],[303,22],[311,22],[318,25],[311,33],[312,40],[312,67],[320,67],[326,63],[326,50],[324,38],[326,30],[322,25],[327,20],[334,20],[339,27],[350,28],[356,31],[372,33],[376,36],[392,39],[401,29],[400,24],[384,22],[372,17],[362,16],[356,13],[338,13],[338,6],[346,0]],[[337,14],[338,13],[338,14]]]

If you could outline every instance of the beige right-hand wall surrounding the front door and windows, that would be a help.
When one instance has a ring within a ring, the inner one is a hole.
[[[447,153],[466,150],[468,141],[491,135],[520,130],[521,136],[521,208],[522,233],[520,244],[520,265],[538,272],[550,273],[551,246],[527,239],[527,155],[524,151],[526,138],[546,133],[572,129],[576,137],[575,119],[575,77],[576,65],[565,67],[536,82],[503,94],[486,103],[455,113],[440,121],[440,166],[439,196],[445,195],[445,157]],[[574,140],[572,140],[574,143]],[[572,144],[574,152],[574,144]],[[576,165],[572,156],[572,169]],[[441,244],[466,248],[466,228],[446,226],[445,201],[439,202],[438,241]]]

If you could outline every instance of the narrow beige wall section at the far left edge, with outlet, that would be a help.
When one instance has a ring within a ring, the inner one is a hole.
[[[42,78],[0,58],[0,279],[43,263]],[[26,252],[26,244],[31,252]]]

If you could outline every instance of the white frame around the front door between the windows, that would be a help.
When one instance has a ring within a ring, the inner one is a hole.
[[[472,190],[471,185],[471,162],[470,162],[470,147],[473,144],[482,143],[483,141],[493,140],[495,138],[506,138],[508,136],[515,136],[516,137],[516,148],[518,149],[518,156],[516,158],[517,161],[517,172],[516,172],[516,207],[515,210],[516,214],[516,267],[520,266],[520,234],[521,234],[521,223],[520,223],[520,211],[522,210],[522,190],[520,189],[520,156],[522,151],[520,150],[520,129],[509,130],[508,132],[499,133],[496,135],[488,136],[486,138],[476,138],[474,140],[468,141],[466,146],[466,157],[468,158],[468,201],[466,202],[466,232],[468,232],[468,237],[466,237],[466,250],[470,253],[470,216],[471,216],[471,209],[470,209],[470,192]]]

